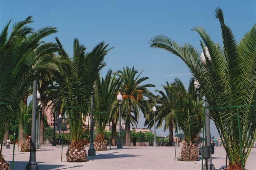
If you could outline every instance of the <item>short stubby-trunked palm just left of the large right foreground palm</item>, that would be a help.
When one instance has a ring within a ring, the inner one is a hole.
[[[174,118],[185,136],[181,158],[183,161],[196,161],[199,155],[197,135],[203,127],[203,105],[194,98],[194,78],[190,80],[188,92],[179,79],[175,79],[175,84],[178,95],[174,105]]]

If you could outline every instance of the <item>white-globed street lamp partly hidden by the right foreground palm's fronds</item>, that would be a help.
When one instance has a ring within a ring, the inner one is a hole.
[[[211,60],[209,51],[207,47],[204,47],[204,52],[200,54],[200,58],[204,66],[206,66],[206,57],[208,60]],[[205,107],[209,107],[209,104],[207,102],[207,99],[205,97]],[[206,146],[211,146],[211,129],[210,129],[210,110],[208,108],[205,109],[205,138],[206,138]],[[208,160],[206,159],[206,164],[204,166],[204,169],[208,168],[210,166],[210,170],[215,170],[214,164],[212,164],[212,155],[210,154],[210,158]]]

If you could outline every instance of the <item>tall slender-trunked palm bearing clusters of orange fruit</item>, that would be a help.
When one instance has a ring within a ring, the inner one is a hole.
[[[140,85],[145,80],[148,80],[148,77],[139,78],[140,74],[137,70],[134,70],[134,67],[123,68],[123,71],[118,71],[118,74],[123,82],[121,94],[122,99],[122,112],[126,113],[125,119],[125,129],[126,129],[126,146],[130,146],[131,132],[130,132],[130,123],[131,123],[131,113],[134,113],[134,118],[138,118],[138,113],[141,111],[144,114],[146,119],[149,118],[151,112],[151,104],[148,100],[144,99],[143,96],[148,96],[150,94],[148,87],[155,87],[153,84]],[[119,122],[120,123],[120,122]]]

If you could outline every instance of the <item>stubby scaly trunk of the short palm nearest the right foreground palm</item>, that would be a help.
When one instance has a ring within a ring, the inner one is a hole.
[[[188,144],[188,145],[187,145]],[[183,161],[197,161],[198,160],[198,149],[197,144],[183,141],[183,147],[181,149],[181,158]]]

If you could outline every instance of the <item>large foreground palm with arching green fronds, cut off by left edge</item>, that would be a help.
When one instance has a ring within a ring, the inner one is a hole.
[[[58,69],[53,60],[43,57],[56,52],[56,43],[42,43],[42,38],[56,32],[45,27],[33,32],[26,20],[14,24],[8,37],[10,22],[0,34],[0,140],[3,139],[6,122],[14,118],[17,106],[42,68]]]

